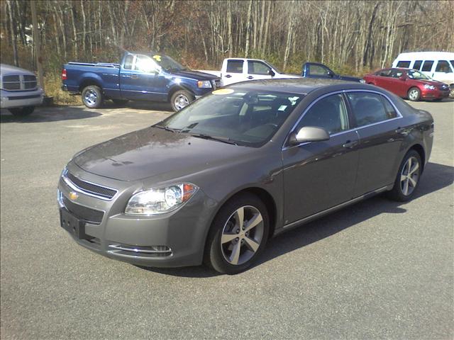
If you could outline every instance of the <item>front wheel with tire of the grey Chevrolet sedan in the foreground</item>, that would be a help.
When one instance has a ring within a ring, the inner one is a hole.
[[[268,212],[260,198],[244,194],[228,200],[211,225],[204,263],[219,273],[245,271],[265,249],[269,230]]]

